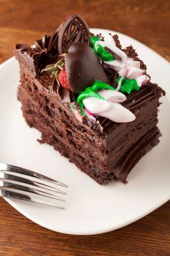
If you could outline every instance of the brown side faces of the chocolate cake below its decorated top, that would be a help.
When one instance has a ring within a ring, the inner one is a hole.
[[[159,103],[153,92],[148,94],[147,102],[143,100],[140,108],[136,104],[134,112],[138,118],[134,122],[115,124],[112,130],[107,126],[106,135],[98,136],[87,126],[77,124],[77,118],[72,116],[69,108],[64,108],[53,92],[43,89],[28,69],[24,69],[21,81],[18,98],[23,104],[23,116],[28,124],[42,132],[43,142],[53,145],[64,157],[101,184],[113,178],[125,182],[138,159],[150,150],[151,145],[158,143],[160,133],[155,126]],[[140,91],[139,96],[141,94]],[[128,100],[125,104],[128,105]],[[126,165],[123,165],[124,162]]]

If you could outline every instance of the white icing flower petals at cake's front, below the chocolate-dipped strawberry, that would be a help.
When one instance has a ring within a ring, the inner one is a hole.
[[[120,105],[120,102],[126,99],[124,94],[109,89],[98,91],[98,94],[106,100],[88,97],[82,101],[89,118],[90,116],[103,116],[117,123],[134,121],[136,118],[134,114]]]

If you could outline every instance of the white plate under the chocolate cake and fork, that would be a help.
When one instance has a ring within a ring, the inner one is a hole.
[[[93,29],[95,33],[108,32]],[[110,31],[109,31],[110,32]],[[118,33],[119,34],[119,33]],[[123,46],[134,45],[147,64],[152,81],[170,98],[170,65],[147,46],[119,34]],[[40,145],[40,133],[23,119],[17,100],[18,62],[9,59],[0,67],[0,162],[20,165],[69,184],[66,209],[7,200],[21,214],[43,227],[61,233],[89,235],[123,227],[154,211],[170,198],[170,103],[162,99],[159,127],[161,143],[144,156],[128,176],[128,184],[113,181],[98,185],[53,147]]]

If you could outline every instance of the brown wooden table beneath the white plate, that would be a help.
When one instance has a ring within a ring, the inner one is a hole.
[[[79,12],[90,27],[120,31],[170,61],[170,2],[0,0],[0,63],[16,42],[33,44]],[[68,236],[39,227],[0,199],[0,255],[170,255],[170,202],[138,222],[97,236]]]

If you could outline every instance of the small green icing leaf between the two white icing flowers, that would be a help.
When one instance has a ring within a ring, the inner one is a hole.
[[[117,78],[117,84],[119,83],[121,77]],[[140,87],[137,84],[136,79],[127,79],[124,78],[122,80],[122,85],[120,87],[120,91],[123,94],[131,94],[132,91],[139,91]]]

